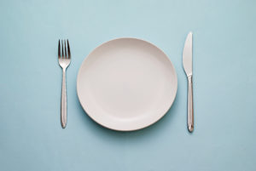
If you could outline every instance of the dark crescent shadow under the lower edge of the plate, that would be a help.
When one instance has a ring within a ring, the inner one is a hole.
[[[174,100],[172,107],[169,111],[167,111],[166,115],[162,117],[158,122],[154,123],[153,125],[135,130],[135,131],[116,131],[109,128],[105,128],[102,125],[94,122],[84,111],[83,107],[79,103],[79,99],[77,97],[77,105],[79,108],[79,115],[83,117],[84,127],[86,129],[90,129],[91,131],[95,132],[96,136],[102,138],[103,140],[111,139],[111,140],[126,140],[129,137],[129,140],[143,140],[147,139],[148,136],[154,136],[154,134],[158,134],[162,129],[167,128],[172,124],[173,118],[177,114],[177,101],[179,98],[179,88],[177,88],[176,99]]]

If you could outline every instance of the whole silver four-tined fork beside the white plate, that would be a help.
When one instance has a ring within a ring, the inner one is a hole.
[[[64,45],[63,45],[64,42]],[[67,48],[66,48],[67,44]],[[59,40],[58,47],[59,65],[62,68],[62,89],[61,89],[61,126],[66,128],[67,125],[67,94],[66,94],[66,69],[70,64],[70,48],[68,40]]]

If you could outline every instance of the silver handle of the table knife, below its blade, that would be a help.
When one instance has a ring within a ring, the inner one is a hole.
[[[189,93],[188,93],[188,129],[191,133],[194,129],[194,109],[193,109],[193,86],[192,75],[188,76]]]

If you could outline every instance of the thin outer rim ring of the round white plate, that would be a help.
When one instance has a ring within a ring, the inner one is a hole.
[[[96,51],[97,48],[100,48],[102,45],[104,44],[107,44],[107,43],[110,43],[110,42],[113,42],[113,41],[116,41],[116,40],[120,40],[120,39],[133,39],[133,40],[137,40],[137,41],[142,41],[144,43],[148,43],[150,45],[152,45],[154,48],[157,48],[160,50],[161,53],[163,53],[166,57],[166,59],[170,62],[172,68],[173,68],[173,71],[174,71],[174,78],[175,78],[175,94],[174,94],[174,98],[172,99],[172,103],[170,104],[170,106],[168,107],[168,109],[166,110],[165,113],[163,113],[161,115],[161,117],[159,117],[158,119],[156,119],[153,123],[150,123],[150,124],[147,124],[146,126],[143,126],[143,127],[140,127],[140,128],[131,128],[131,129],[119,129],[119,128],[110,128],[108,127],[107,125],[104,125],[98,121],[96,121],[93,117],[91,117],[90,113],[88,111],[85,110],[83,104],[81,103],[81,100],[80,100],[80,97],[79,97],[79,91],[78,91],[78,82],[79,82],[79,75],[81,73],[81,67],[84,66],[84,63],[88,60],[88,57],[90,56],[90,54],[92,54],[93,52]],[[169,59],[169,57],[167,56],[167,54],[160,48],[158,48],[156,45],[154,45],[153,43],[150,43],[146,40],[143,40],[141,38],[135,38],[135,37],[118,37],[118,38],[114,38],[114,39],[111,39],[111,40],[108,40],[107,42],[104,42],[104,43],[101,43],[100,45],[96,46],[96,48],[93,48],[93,50],[90,51],[89,54],[86,55],[86,57],[84,58],[82,64],[79,66],[79,71],[78,71],[78,74],[77,74],[77,82],[76,82],[76,89],[77,89],[77,95],[78,95],[78,99],[79,99],[79,104],[82,106],[83,110],[85,111],[85,114],[90,117],[90,119],[92,119],[95,123],[101,125],[103,128],[108,128],[108,129],[111,129],[111,130],[114,130],[114,131],[120,131],[120,132],[130,132],[130,131],[137,131],[137,130],[140,130],[140,129],[143,129],[143,128],[147,128],[151,125],[154,125],[154,123],[157,123],[158,121],[160,121],[161,118],[165,117],[167,112],[170,111],[170,109],[172,108],[172,105],[174,103],[174,100],[176,99],[176,96],[177,96],[177,72],[175,70],[175,67],[173,66],[172,64],[172,61]]]

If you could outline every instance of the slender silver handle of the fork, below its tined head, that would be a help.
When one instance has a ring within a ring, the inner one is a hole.
[[[62,88],[61,88],[61,127],[67,125],[67,94],[66,94],[66,70],[62,70]]]

